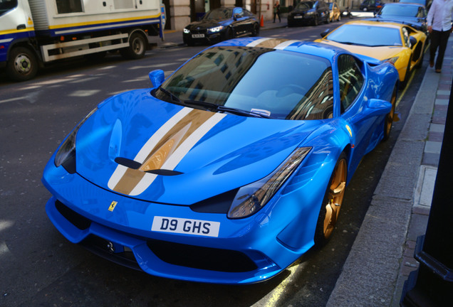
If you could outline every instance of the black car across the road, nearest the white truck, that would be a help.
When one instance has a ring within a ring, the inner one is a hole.
[[[259,21],[250,11],[240,7],[219,8],[207,12],[201,21],[195,21],[182,31],[187,45],[219,43],[240,36],[258,36]]]

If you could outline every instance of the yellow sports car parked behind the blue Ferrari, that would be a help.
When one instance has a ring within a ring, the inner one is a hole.
[[[350,21],[321,36],[317,42],[392,63],[400,75],[400,88],[407,85],[410,71],[422,66],[425,53],[425,33],[400,23]]]

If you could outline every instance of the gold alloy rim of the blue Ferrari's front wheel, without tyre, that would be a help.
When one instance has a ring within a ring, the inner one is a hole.
[[[328,190],[328,203],[326,204],[326,217],[324,218],[324,237],[328,239],[332,235],[333,229],[340,213],[343,196],[345,195],[346,176],[348,168],[345,158],[338,161],[333,172],[332,181]]]

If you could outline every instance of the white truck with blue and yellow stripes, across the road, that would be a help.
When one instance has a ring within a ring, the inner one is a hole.
[[[0,69],[30,80],[48,63],[119,50],[145,55],[149,36],[164,37],[161,0],[0,0]]]

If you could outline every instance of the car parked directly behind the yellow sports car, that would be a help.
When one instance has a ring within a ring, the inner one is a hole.
[[[427,11],[421,4],[384,4],[375,18],[365,20],[404,23],[427,34]]]

